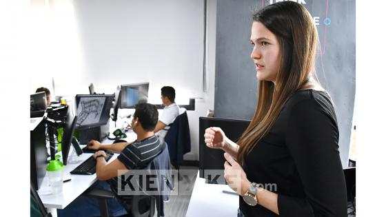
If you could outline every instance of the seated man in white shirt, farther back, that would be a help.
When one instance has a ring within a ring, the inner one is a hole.
[[[169,125],[179,116],[180,107],[174,103],[175,98],[176,92],[173,87],[165,86],[161,88],[162,104],[165,105],[165,107],[154,129],[154,133],[159,136],[159,142],[161,144],[165,140],[167,130],[170,128]]]

